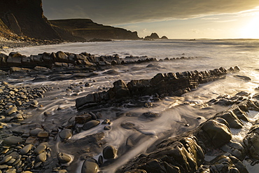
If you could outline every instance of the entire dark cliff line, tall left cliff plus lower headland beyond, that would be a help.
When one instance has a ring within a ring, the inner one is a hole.
[[[41,40],[139,39],[137,32],[99,25],[92,20],[52,20],[43,15],[41,0],[0,0],[0,36]],[[15,37],[16,36],[16,37]]]

